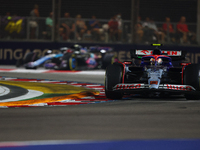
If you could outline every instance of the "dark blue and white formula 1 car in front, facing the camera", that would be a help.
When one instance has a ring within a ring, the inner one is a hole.
[[[172,61],[184,60],[185,51],[130,50],[132,59],[106,68],[105,94],[107,98],[122,99],[125,94],[155,94],[156,96],[184,94],[187,100],[200,99],[200,65]]]

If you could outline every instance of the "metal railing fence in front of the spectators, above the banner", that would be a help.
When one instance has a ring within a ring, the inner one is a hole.
[[[96,27],[91,27],[92,19],[81,19],[85,27],[80,27],[76,18],[60,18],[53,27],[47,24],[47,17],[0,16],[0,41],[34,41],[34,42],[79,42],[79,43],[109,43],[109,44],[147,44],[163,43],[167,45],[198,45],[196,42],[197,24],[187,23],[190,34],[184,42],[177,31],[177,23],[172,22],[173,36],[169,29],[164,31],[164,22],[153,22],[156,30],[145,26],[144,21],[138,22],[135,27],[135,43],[132,43],[131,21],[120,20],[118,26],[109,26],[110,20],[96,19]],[[64,27],[67,24],[69,28]],[[139,27],[138,27],[139,26]],[[115,29],[113,29],[115,28]],[[113,31],[114,30],[114,31]]]

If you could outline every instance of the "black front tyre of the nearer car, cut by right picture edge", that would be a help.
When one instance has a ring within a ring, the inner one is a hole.
[[[196,89],[195,93],[185,94],[187,100],[200,100],[200,65],[190,64],[185,67],[183,83],[184,85],[190,85]]]

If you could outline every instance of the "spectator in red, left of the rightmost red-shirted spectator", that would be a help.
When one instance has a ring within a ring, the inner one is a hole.
[[[171,41],[171,42],[175,43],[176,42],[176,34],[175,34],[173,26],[170,22],[169,17],[165,18],[165,23],[163,23],[162,28],[163,28],[163,32],[165,33],[165,35],[167,35],[167,38],[168,38],[167,41]]]

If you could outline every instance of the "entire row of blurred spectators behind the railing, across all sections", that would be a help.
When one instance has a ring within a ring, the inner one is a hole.
[[[65,12],[55,24],[54,34],[53,26],[53,12],[49,12],[47,17],[40,17],[39,6],[34,5],[29,17],[11,15],[9,12],[1,17],[0,39],[51,40],[56,35],[56,40],[67,42],[131,43],[131,29],[134,29],[136,43],[197,44],[196,32],[189,29],[184,16],[176,23],[171,23],[170,17],[166,17],[165,22],[138,17],[136,25],[131,27],[130,20],[123,20],[121,13],[109,20],[102,20],[95,15],[88,19],[83,19],[81,14],[71,17],[69,12]]]

